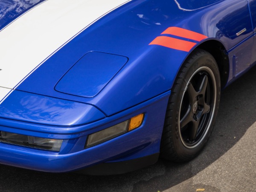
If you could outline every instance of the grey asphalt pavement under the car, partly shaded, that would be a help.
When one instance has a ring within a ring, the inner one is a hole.
[[[0,165],[1,192],[256,192],[256,67],[221,93],[212,136],[189,163],[159,160],[113,176],[52,174]]]

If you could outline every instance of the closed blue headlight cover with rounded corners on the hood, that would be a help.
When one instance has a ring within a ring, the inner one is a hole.
[[[103,52],[85,54],[58,82],[55,90],[81,97],[96,96],[128,58]]]

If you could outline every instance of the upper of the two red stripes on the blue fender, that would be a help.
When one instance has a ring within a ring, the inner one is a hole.
[[[203,39],[208,38],[207,36],[202,35],[200,33],[189,31],[187,29],[182,29],[179,27],[169,27],[164,32],[162,32],[162,34],[175,35],[178,37],[188,38],[195,41],[202,41]]]

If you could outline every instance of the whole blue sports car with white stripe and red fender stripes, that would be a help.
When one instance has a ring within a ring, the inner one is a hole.
[[[255,34],[256,0],[1,0],[0,163],[109,175],[191,160]]]

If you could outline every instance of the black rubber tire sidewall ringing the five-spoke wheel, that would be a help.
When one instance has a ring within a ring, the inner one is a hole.
[[[174,121],[172,122],[173,145],[178,157],[180,159],[183,159],[184,161],[186,159],[190,160],[195,156],[197,156],[198,153],[203,149],[204,145],[207,143],[209,136],[212,132],[212,128],[214,126],[216,116],[217,116],[218,104],[220,100],[220,87],[221,87],[218,65],[216,64],[216,61],[212,57],[212,55],[210,55],[208,52],[204,51],[204,53],[196,57],[193,62],[191,63],[187,62],[187,63],[188,65],[186,65],[186,67],[184,67],[183,69],[183,75],[184,75],[183,81],[180,84],[180,87],[177,91],[177,97],[175,102],[177,105],[175,105],[175,109],[173,111],[174,112],[173,116],[175,116],[175,118],[172,118]],[[209,69],[212,70],[212,73],[215,77],[215,82],[216,82],[215,109],[213,111],[212,122],[209,125],[209,129],[205,134],[204,138],[202,139],[201,143],[199,143],[195,148],[187,148],[182,143],[182,137],[180,135],[180,128],[179,128],[180,103],[182,102],[186,85],[188,84],[189,80],[191,79],[195,71],[198,70],[200,67],[209,67]]]

